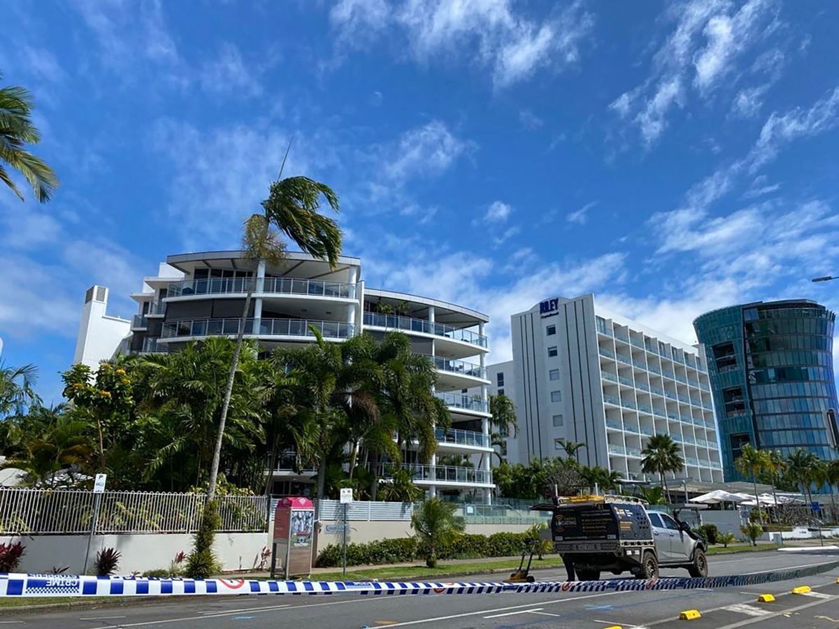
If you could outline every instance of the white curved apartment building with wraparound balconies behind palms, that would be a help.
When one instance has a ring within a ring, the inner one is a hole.
[[[190,340],[210,335],[235,336],[253,269],[242,252],[198,252],[169,256],[154,277],[132,294],[133,319],[108,316],[107,289],[88,290],[82,311],[76,362],[96,367],[117,353],[176,351]],[[385,314],[399,313],[399,314]],[[357,257],[341,257],[336,268],[304,253],[289,253],[278,268],[256,270],[253,305],[246,337],[261,351],[300,346],[315,340],[310,325],[326,340],[340,343],[368,332],[389,330],[409,335],[416,353],[434,361],[436,395],[446,401],[452,428],[437,430],[437,455],[426,465],[409,450],[404,466],[414,482],[430,493],[474,491],[487,502],[492,488],[487,403],[487,315],[437,299],[370,289]],[[465,394],[472,389],[477,394]],[[441,455],[466,455],[473,467],[436,465]],[[273,470],[274,493],[310,489],[311,474],[294,475],[288,458]]]

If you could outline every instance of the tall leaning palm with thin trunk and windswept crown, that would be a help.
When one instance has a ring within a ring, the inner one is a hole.
[[[291,144],[289,143],[289,148]],[[288,150],[286,150],[288,157]],[[285,158],[280,166],[279,176],[282,177]],[[332,189],[308,177],[288,177],[279,179],[271,184],[268,199],[263,200],[263,213],[254,214],[245,221],[243,248],[245,257],[252,260],[254,270],[258,273],[260,264],[279,263],[285,255],[284,243],[274,231],[276,226],[294,242],[300,250],[309,253],[318,260],[326,260],[332,268],[338,263],[341,255],[341,229],[337,223],[327,216],[318,213],[321,195],[326,199],[332,210],[338,211],[338,197]],[[233,390],[233,380],[236,378],[239,353],[242,351],[242,338],[245,334],[246,322],[251,307],[251,299],[257,279],[256,273],[248,282],[248,294],[242,309],[242,318],[236,335],[236,348],[227,375],[227,389],[224,402],[221,405],[216,433],[216,449],[210,467],[210,486],[207,490],[209,498],[216,491],[216,476],[221,457],[221,439],[224,434],[224,424],[227,421],[227,408]]]

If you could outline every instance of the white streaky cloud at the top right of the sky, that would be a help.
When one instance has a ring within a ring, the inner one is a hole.
[[[777,0],[749,0],[737,8],[728,0],[690,0],[673,5],[668,13],[676,18],[675,29],[654,53],[648,78],[615,98],[609,108],[638,127],[644,146],[651,147],[674,109],[685,107],[691,84],[705,97],[724,84],[737,60],[770,30],[765,25],[774,17],[776,4]],[[769,63],[764,60],[764,65]],[[748,107],[747,101],[743,107]]]

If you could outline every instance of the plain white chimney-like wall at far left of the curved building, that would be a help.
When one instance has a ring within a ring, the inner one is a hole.
[[[76,351],[73,362],[81,362],[92,369],[99,362],[114,356],[131,333],[131,322],[106,314],[108,289],[91,286],[81,309],[79,335],[76,337]]]

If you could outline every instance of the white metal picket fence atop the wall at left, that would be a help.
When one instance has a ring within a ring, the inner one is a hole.
[[[0,489],[0,534],[89,533],[91,491]],[[96,533],[193,533],[201,523],[204,494],[105,491]],[[268,522],[265,496],[218,496],[219,531],[261,532]]]

